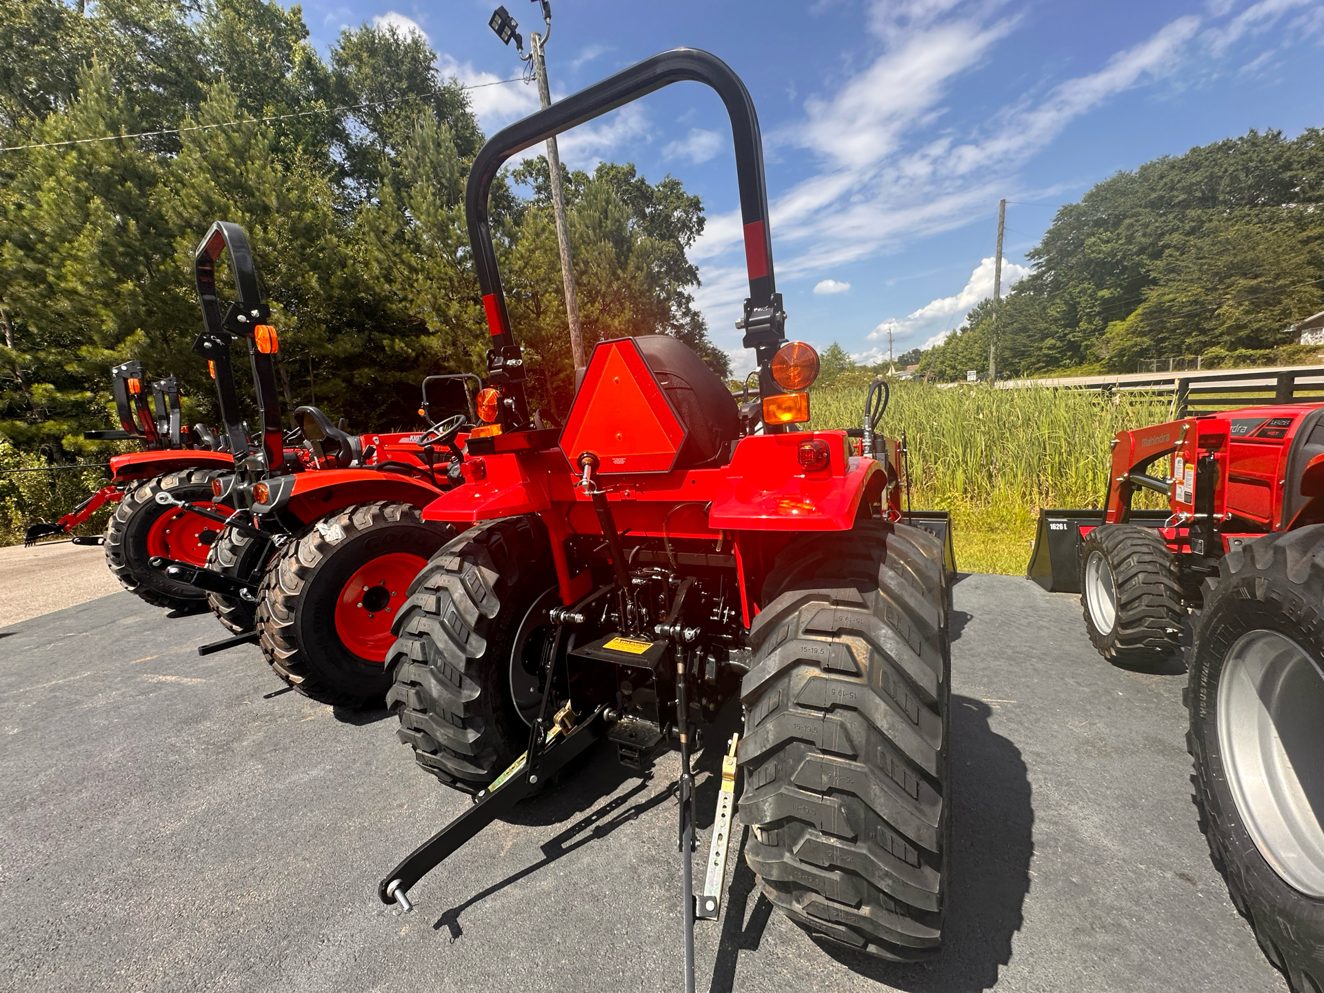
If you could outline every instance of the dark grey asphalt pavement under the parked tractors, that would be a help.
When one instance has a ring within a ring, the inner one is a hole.
[[[1200,833],[1185,677],[1108,665],[1074,597],[1021,579],[964,577],[953,620],[941,959],[816,944],[733,843],[698,989],[1286,990]],[[379,878],[467,797],[389,715],[279,692],[256,647],[196,654],[220,636],[123,592],[0,629],[0,986],[682,989],[674,756],[641,780],[591,753],[401,915]]]

